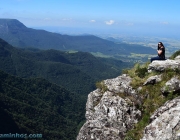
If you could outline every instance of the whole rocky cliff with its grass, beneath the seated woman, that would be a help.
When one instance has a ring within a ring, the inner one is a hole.
[[[124,73],[98,83],[89,94],[77,140],[178,139],[179,57]]]

